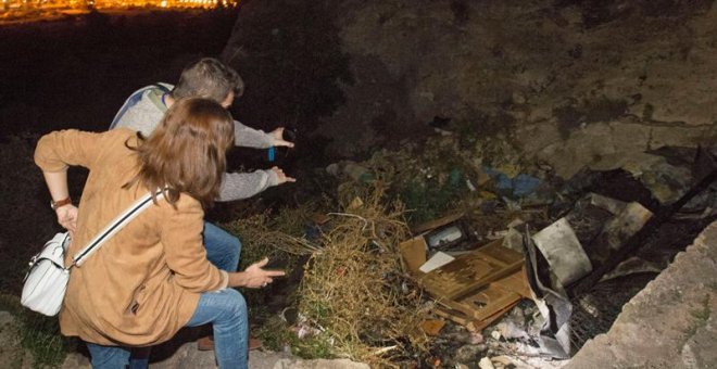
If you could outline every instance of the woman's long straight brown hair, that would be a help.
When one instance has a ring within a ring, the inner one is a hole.
[[[139,181],[148,190],[166,188],[164,196],[173,205],[184,192],[210,207],[219,193],[226,151],[232,143],[234,120],[222,105],[198,98],[177,100],[134,149],[140,169],[125,187]]]

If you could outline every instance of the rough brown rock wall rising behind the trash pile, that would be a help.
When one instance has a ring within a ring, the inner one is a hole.
[[[319,35],[336,31],[332,54],[348,60],[327,76],[343,103],[315,124],[335,156],[424,135],[433,122],[505,139],[567,178],[583,166],[656,165],[645,151],[717,141],[712,1],[288,3],[309,12],[304,23],[320,14]],[[250,17],[239,15],[225,53],[242,48],[237,31]],[[272,33],[292,29],[289,43],[307,37],[292,22]],[[303,52],[325,54],[320,47]],[[322,65],[299,66],[312,67]]]

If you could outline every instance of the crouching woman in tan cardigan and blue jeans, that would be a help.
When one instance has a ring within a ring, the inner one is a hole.
[[[172,339],[181,327],[211,322],[221,368],[247,367],[247,306],[234,287],[260,288],[281,271],[226,272],[206,260],[203,208],[225,170],[234,123],[216,102],[175,103],[152,135],[64,130],[40,139],[42,169],[60,224],[73,232],[67,260],[148,191],[153,206],[72,269],[60,313],[65,335],[89,348],[93,368],[124,368],[129,347]],[[89,168],[77,211],[67,192],[68,165]]]

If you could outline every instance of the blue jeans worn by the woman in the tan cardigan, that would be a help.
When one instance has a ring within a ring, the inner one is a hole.
[[[202,293],[187,327],[206,323],[214,328],[214,354],[219,368],[247,368],[249,322],[241,293],[234,289]],[[124,369],[129,364],[130,351],[126,347],[87,343],[87,348],[93,369]]]

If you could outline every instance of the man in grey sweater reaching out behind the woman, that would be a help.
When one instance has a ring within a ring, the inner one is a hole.
[[[149,136],[167,109],[178,99],[211,99],[228,109],[235,97],[240,97],[242,93],[243,81],[232,68],[216,59],[204,58],[185,68],[176,86],[156,84],[133,93],[115,115],[110,129],[127,127]],[[237,120],[234,124],[235,145],[256,149],[293,147],[293,143],[282,139],[282,127],[266,133]],[[268,187],[293,181],[294,178],[286,176],[278,167],[253,173],[225,173],[217,201],[247,199]],[[204,222],[203,236],[206,258],[219,269],[236,271],[241,253],[239,239],[207,221]],[[211,349],[211,344],[206,339],[200,340],[199,347]],[[133,360],[133,368],[142,367],[136,361],[138,360]]]

